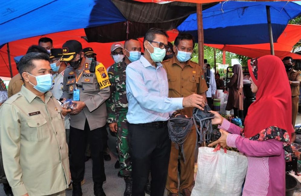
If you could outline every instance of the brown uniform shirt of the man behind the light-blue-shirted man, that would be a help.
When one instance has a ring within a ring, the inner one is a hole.
[[[176,55],[162,62],[168,79],[168,97],[186,97],[192,93],[201,94],[208,90],[204,72],[200,65],[187,61],[182,68]],[[193,108],[184,108],[181,114],[192,116]]]

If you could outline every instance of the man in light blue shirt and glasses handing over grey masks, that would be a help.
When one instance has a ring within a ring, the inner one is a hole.
[[[132,196],[144,196],[149,170],[152,174],[151,196],[164,194],[171,141],[168,137],[169,117],[179,115],[183,107],[202,109],[205,99],[192,94],[168,98],[167,74],[160,63],[166,52],[165,31],[151,28],[143,40],[145,53],[126,68],[129,145],[132,160]]]

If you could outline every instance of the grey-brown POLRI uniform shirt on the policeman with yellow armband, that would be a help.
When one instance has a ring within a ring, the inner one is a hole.
[[[98,65],[99,62],[96,64]],[[64,72],[64,87],[61,98],[73,99],[73,92],[77,87],[80,91],[80,101],[86,104],[80,113],[70,115],[70,126],[80,130],[84,130],[86,119],[90,130],[106,125],[107,112],[104,102],[110,97],[110,87],[100,89],[96,74],[90,72],[90,65],[91,59],[85,58],[82,70],[67,67]],[[77,82],[76,79],[78,79]]]

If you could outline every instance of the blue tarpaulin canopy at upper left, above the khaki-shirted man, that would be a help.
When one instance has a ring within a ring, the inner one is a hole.
[[[94,0],[2,1],[0,45],[48,33],[126,21],[110,0],[101,0],[102,6],[95,7],[95,4]]]

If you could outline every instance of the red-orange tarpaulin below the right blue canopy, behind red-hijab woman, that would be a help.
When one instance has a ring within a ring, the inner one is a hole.
[[[301,39],[301,25],[288,24],[283,33],[274,43],[275,55],[279,58],[291,56],[293,59],[301,59],[301,55],[290,52],[293,46]],[[220,44],[205,44],[235,54],[256,58],[264,55],[270,55],[270,44],[249,44],[249,45],[220,45]]]

